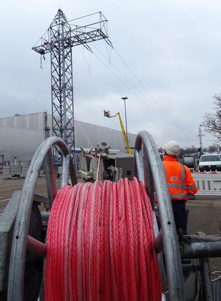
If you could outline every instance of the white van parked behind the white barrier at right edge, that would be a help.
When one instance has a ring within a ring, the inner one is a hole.
[[[200,157],[199,171],[221,171],[221,154],[205,154]]]

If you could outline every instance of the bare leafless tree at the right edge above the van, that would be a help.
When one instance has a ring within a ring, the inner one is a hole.
[[[215,99],[213,104],[215,107],[214,113],[205,113],[203,118],[204,121],[200,124],[200,126],[204,127],[204,130],[216,137],[217,142],[221,142],[221,94],[215,94],[213,96]]]

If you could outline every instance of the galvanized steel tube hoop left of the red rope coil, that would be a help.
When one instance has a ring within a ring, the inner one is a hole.
[[[62,185],[67,184],[68,166],[72,185],[77,184],[73,160],[70,158],[70,151],[67,148],[67,145],[59,137],[47,138],[42,142],[42,144],[34,154],[21,191],[11,246],[8,276],[8,300],[23,300],[25,254],[28,228],[34,191],[43,160],[45,160],[45,175],[47,179],[47,189],[50,206],[52,205],[54,197],[57,193],[54,178],[53,157],[51,153],[51,146],[53,145],[57,145],[61,149],[64,154],[64,158],[66,156],[62,170],[62,177],[64,177],[64,179],[61,180]],[[63,171],[65,172],[63,173]]]

